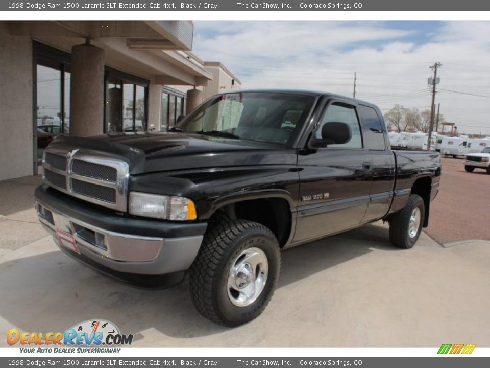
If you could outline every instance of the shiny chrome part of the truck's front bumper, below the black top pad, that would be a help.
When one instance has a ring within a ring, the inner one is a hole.
[[[41,225],[60,248],[66,250],[56,236],[56,229],[74,236],[81,255],[118,272],[159,275],[185,271],[203,240],[202,235],[157,238],[115,233],[70,218],[39,199],[36,210]]]

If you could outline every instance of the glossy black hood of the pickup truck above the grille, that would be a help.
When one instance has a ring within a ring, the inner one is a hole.
[[[88,149],[129,163],[130,174],[226,166],[274,165],[290,149],[269,143],[193,133],[118,133],[59,137],[51,146]]]

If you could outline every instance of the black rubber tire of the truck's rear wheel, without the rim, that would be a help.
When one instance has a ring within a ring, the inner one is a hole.
[[[408,235],[408,226],[410,221],[410,216],[412,215],[415,207],[420,209],[421,222],[416,236],[410,238]],[[421,196],[416,194],[410,194],[407,204],[405,207],[393,214],[389,219],[389,241],[391,244],[403,248],[409,249],[417,242],[422,232],[422,226],[425,218],[425,204]]]

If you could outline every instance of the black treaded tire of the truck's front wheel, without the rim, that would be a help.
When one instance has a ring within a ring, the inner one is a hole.
[[[228,296],[227,280],[232,263],[247,248],[260,248],[266,255],[268,274],[264,289],[252,304],[234,305]],[[248,220],[220,218],[203,240],[190,271],[190,295],[195,308],[216,324],[235,327],[263,312],[279,279],[279,243],[267,227]]]

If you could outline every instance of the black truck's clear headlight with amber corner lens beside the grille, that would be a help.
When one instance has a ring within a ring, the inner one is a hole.
[[[194,202],[190,199],[140,192],[129,193],[129,213],[174,221],[195,220],[198,217]]]

